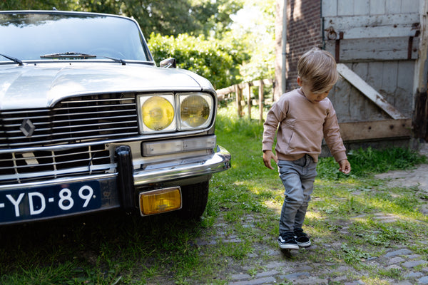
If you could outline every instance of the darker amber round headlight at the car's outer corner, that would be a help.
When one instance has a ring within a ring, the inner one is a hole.
[[[201,96],[190,95],[180,103],[181,122],[192,128],[205,124],[210,117],[210,105]]]

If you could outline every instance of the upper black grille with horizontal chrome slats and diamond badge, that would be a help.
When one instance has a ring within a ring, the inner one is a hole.
[[[138,135],[133,94],[68,98],[54,108],[1,111],[0,147],[63,145]]]

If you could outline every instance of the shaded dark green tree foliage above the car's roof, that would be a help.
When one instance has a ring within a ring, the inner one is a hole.
[[[58,10],[89,11],[130,16],[143,33],[178,36],[180,33],[225,31],[232,22],[229,15],[242,8],[242,0],[4,0],[0,10],[28,10],[56,7]]]

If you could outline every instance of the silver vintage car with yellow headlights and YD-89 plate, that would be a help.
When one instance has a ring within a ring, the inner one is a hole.
[[[0,225],[122,208],[203,214],[216,144],[211,83],[156,66],[137,22],[0,11]]]

